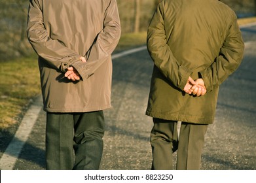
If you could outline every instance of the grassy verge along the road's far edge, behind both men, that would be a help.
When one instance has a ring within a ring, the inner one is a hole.
[[[238,20],[240,25],[256,22],[256,17]],[[146,43],[147,33],[122,34],[115,52]],[[14,59],[0,66],[0,129],[20,121],[31,99],[40,95],[37,58]]]

